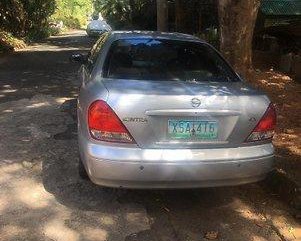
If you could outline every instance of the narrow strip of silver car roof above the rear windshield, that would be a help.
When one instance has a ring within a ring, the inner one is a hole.
[[[112,37],[115,40],[127,39],[127,38],[159,38],[159,39],[171,39],[171,40],[186,40],[186,41],[198,41],[204,42],[196,36],[183,34],[183,33],[167,33],[159,31],[112,31]]]

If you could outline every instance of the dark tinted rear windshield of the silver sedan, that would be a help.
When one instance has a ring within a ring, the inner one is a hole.
[[[135,80],[239,81],[211,47],[169,39],[122,39],[107,55],[104,77]]]

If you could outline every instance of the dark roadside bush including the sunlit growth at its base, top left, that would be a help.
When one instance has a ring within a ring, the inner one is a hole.
[[[0,2],[0,50],[24,47],[25,41],[50,35],[48,18],[55,11],[55,0]]]

